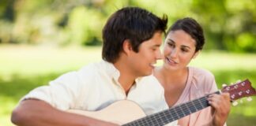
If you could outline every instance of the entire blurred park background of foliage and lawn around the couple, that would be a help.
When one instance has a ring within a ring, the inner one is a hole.
[[[28,91],[100,61],[101,30],[124,6],[165,13],[168,26],[198,20],[206,43],[190,65],[213,72],[219,88],[245,79],[256,87],[255,0],[1,0],[0,126],[13,125],[10,114]],[[228,125],[256,125],[255,101],[232,106]]]

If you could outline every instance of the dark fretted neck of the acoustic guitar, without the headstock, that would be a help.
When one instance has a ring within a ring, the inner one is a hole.
[[[220,91],[216,91],[213,94],[220,94]],[[134,126],[134,125],[141,125],[141,126],[162,126],[164,124],[168,124],[174,120],[178,120],[182,117],[186,117],[191,113],[197,112],[201,109],[205,109],[209,106],[207,101],[209,95],[204,97],[195,99],[190,102],[183,103],[179,106],[171,107],[170,109],[164,110],[160,113],[154,113],[147,117],[143,117],[139,120],[134,120],[128,124],[123,124],[123,126]]]

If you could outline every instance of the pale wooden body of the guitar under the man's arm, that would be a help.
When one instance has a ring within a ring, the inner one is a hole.
[[[99,111],[70,109],[68,112],[77,113],[98,120],[106,120],[115,124],[126,124],[146,116],[140,106],[129,100],[114,102],[110,106]]]

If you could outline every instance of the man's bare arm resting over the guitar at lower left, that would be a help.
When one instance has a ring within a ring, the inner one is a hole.
[[[20,126],[89,126],[89,125],[106,125],[114,126],[105,121],[92,119],[74,113],[67,113],[55,109],[47,102],[37,99],[27,99],[21,102],[16,109],[13,110],[11,120],[13,124]]]

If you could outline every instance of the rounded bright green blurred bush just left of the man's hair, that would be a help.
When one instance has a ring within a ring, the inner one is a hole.
[[[70,43],[93,45],[101,41],[103,28],[102,14],[85,6],[79,6],[70,13],[68,29],[71,32]]]

